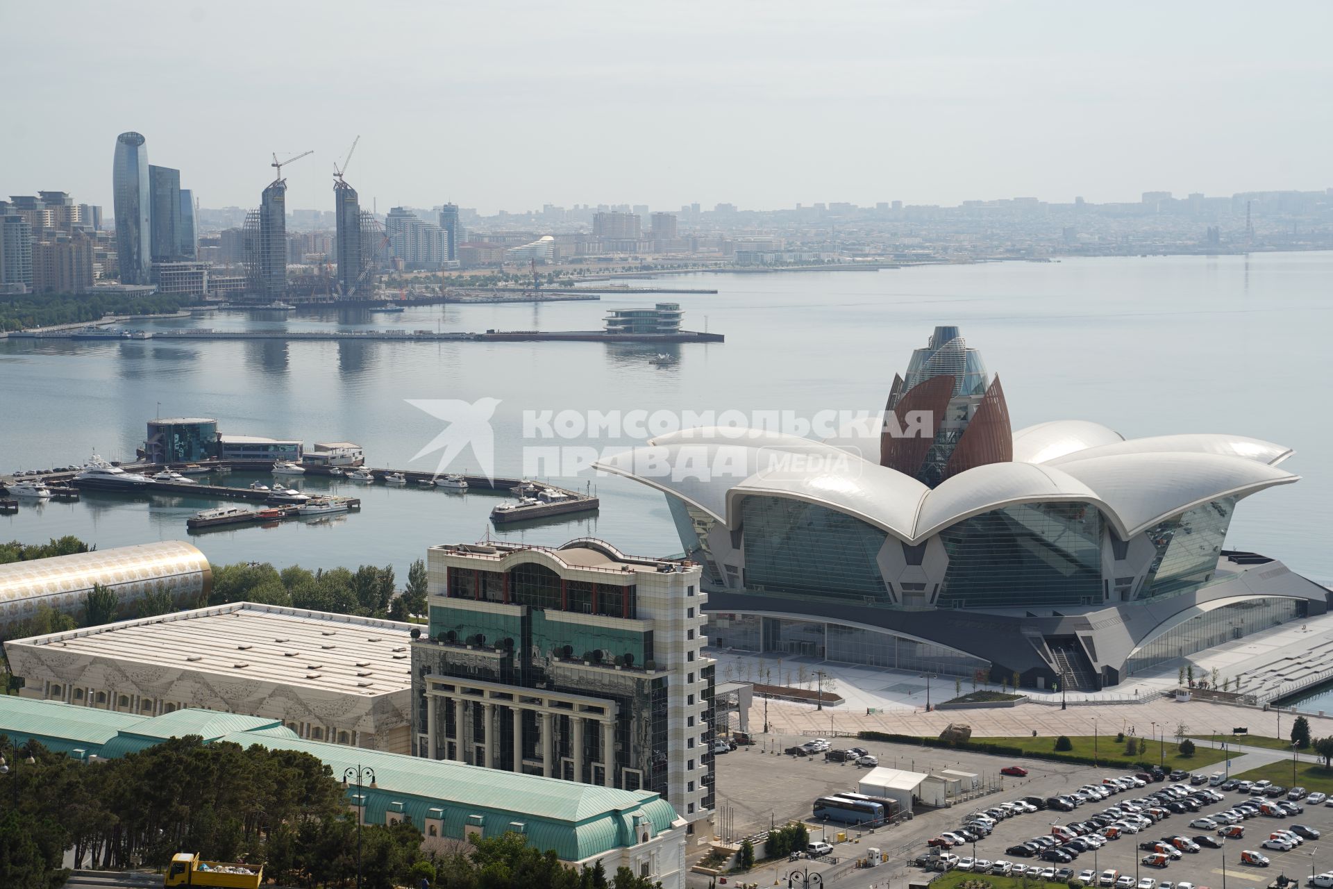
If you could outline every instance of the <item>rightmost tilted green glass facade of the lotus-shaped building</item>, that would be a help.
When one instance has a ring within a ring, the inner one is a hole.
[[[1140,598],[1186,593],[1210,581],[1233,512],[1236,498],[1224,497],[1144,532],[1157,548],[1157,557],[1148,569]]]

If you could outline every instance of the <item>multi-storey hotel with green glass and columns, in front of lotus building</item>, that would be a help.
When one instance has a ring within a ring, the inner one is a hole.
[[[428,550],[412,642],[417,756],[661,793],[713,809],[701,568],[581,538]],[[708,832],[708,836],[712,836]]]

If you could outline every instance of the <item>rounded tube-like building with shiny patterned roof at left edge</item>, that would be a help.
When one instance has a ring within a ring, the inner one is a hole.
[[[0,565],[0,636],[11,636],[41,605],[81,613],[96,584],[111,589],[120,613],[129,614],[149,592],[167,592],[179,606],[197,604],[208,598],[212,582],[204,553],[179,540]]]

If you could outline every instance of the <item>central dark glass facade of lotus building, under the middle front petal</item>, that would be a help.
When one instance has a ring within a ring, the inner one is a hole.
[[[940,532],[949,568],[941,608],[1082,605],[1102,600],[1101,513],[1092,504],[1020,504]]]

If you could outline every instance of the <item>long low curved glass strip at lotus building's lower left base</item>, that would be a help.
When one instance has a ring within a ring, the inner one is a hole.
[[[970,677],[978,670],[990,670],[989,661],[944,645],[886,630],[825,621],[714,613],[709,616],[708,637],[718,648],[784,657],[813,657],[897,670],[930,670],[945,676]]]

